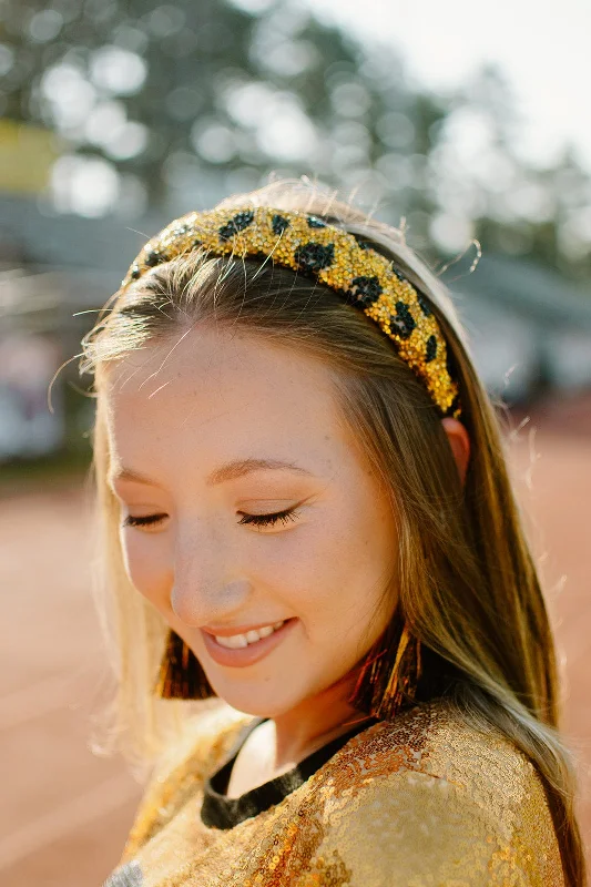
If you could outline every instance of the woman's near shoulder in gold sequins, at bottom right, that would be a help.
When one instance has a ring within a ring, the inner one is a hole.
[[[322,852],[337,853],[355,884],[562,887],[536,768],[500,733],[477,731],[447,703],[376,724],[334,763]]]

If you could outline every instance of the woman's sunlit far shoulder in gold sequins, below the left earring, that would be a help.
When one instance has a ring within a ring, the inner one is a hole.
[[[216,768],[252,715],[223,702],[206,704],[185,720],[159,756],[128,837],[122,861],[131,858]]]

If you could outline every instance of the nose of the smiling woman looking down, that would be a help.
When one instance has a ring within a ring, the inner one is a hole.
[[[234,547],[201,530],[177,541],[170,598],[174,614],[192,628],[224,622],[251,592]]]

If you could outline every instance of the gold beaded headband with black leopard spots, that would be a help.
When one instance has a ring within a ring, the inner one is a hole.
[[[458,386],[450,378],[446,341],[431,308],[395,264],[368,244],[300,212],[268,206],[193,212],[145,244],[121,289],[149,268],[198,248],[237,258],[266,257],[315,277],[378,324],[442,416],[459,417]]]

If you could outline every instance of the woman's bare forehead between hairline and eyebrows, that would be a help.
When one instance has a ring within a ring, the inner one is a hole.
[[[348,446],[327,368],[244,333],[193,328],[147,345],[105,371],[100,396],[118,461]]]

